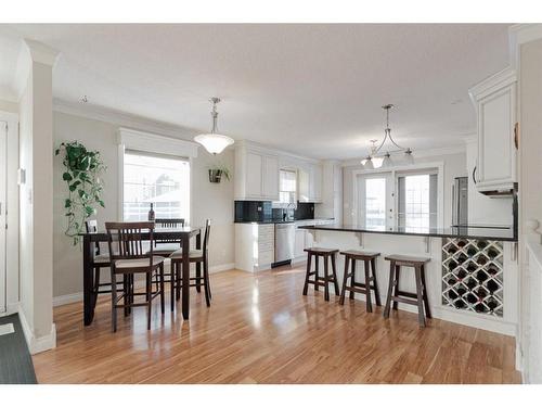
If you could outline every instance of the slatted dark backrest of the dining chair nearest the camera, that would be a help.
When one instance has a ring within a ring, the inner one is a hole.
[[[154,221],[106,221],[105,230],[112,264],[117,259],[149,258],[152,266]],[[149,239],[143,240],[143,233],[149,233]],[[143,244],[146,241],[150,242],[150,251]]]

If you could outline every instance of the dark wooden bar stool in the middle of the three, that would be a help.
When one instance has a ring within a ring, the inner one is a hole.
[[[343,291],[340,292],[339,304],[345,305],[345,295],[347,291],[350,292],[350,300],[353,300],[354,293],[365,294],[366,310],[367,313],[372,313],[373,305],[371,304],[371,290],[374,291],[376,305],[382,305],[380,295],[378,293],[378,284],[376,283],[376,257],[378,257],[380,253],[349,250],[340,252],[340,254],[345,256],[345,277],[343,278]],[[356,281],[356,260],[363,262],[365,282]],[[351,272],[349,272],[349,264],[351,264]],[[350,287],[348,287],[348,279],[350,279]]]

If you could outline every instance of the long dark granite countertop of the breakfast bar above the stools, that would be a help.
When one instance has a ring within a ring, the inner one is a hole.
[[[300,229],[307,230],[328,230],[343,232],[361,232],[361,233],[382,233],[382,234],[404,234],[404,236],[421,236],[431,238],[463,238],[478,240],[500,240],[506,242],[517,242],[517,237],[514,236],[512,227],[480,227],[480,226],[461,226],[451,228],[404,228],[396,227],[391,229],[383,229],[370,227],[366,225],[315,225],[315,226],[299,226]]]

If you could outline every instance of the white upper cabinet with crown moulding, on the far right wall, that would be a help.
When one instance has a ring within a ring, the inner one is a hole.
[[[469,90],[477,114],[479,192],[511,190],[516,182],[516,73],[506,68]]]

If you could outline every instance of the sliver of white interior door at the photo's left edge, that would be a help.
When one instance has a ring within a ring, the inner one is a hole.
[[[5,311],[5,206],[8,124],[0,122],[0,313]]]

